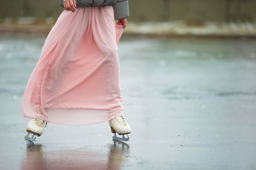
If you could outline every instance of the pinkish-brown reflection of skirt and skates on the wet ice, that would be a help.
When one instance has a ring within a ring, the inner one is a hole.
[[[21,170],[120,170],[129,155],[129,145],[113,139],[108,146],[108,157],[98,149],[47,151],[47,147],[32,142],[27,144]]]

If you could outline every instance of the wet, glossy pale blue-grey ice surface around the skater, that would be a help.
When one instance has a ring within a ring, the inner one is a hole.
[[[46,35],[0,34],[0,170],[255,170],[256,40],[122,37],[130,141],[107,122],[24,140],[27,80]]]

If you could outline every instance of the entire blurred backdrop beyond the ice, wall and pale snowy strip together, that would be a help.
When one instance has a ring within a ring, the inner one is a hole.
[[[131,0],[129,5],[125,34],[256,35],[256,0]],[[58,0],[1,0],[1,30],[48,33],[62,10]]]

